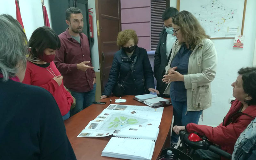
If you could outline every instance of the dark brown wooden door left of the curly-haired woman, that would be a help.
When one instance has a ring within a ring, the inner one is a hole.
[[[116,45],[118,32],[121,31],[120,0],[95,0],[97,34],[100,59],[101,91],[108,82],[114,54],[120,49]]]

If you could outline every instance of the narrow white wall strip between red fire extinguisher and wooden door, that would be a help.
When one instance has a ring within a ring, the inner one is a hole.
[[[93,22],[93,35],[94,35],[94,43],[91,48],[92,54],[92,65],[94,67],[94,71],[99,72],[100,70],[100,60],[99,60],[99,49],[98,49],[98,36],[97,36],[97,22],[96,22],[96,12],[95,12],[95,0],[88,0],[88,8],[92,8],[90,11],[93,12],[92,22]]]

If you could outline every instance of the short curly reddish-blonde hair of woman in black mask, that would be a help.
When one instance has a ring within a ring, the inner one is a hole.
[[[138,36],[136,35],[135,30],[126,29],[118,33],[116,44],[119,47],[123,47],[130,39],[134,40],[134,45],[138,44]]]

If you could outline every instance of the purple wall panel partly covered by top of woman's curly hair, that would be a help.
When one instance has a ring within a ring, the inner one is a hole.
[[[150,36],[150,22],[122,24],[122,30],[133,29],[138,36]]]

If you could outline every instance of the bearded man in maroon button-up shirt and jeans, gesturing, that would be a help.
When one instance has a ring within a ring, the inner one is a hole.
[[[64,77],[64,85],[76,98],[76,107],[70,112],[72,116],[95,101],[96,76],[92,67],[89,41],[82,33],[82,11],[75,7],[68,8],[66,23],[69,28],[59,35],[61,47],[55,52],[54,62]]]

